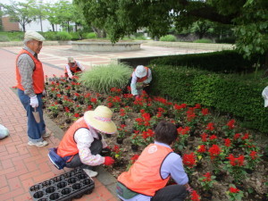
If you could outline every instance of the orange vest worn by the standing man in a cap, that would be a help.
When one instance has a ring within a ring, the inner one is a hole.
[[[16,58],[16,80],[17,80],[16,87],[24,91],[24,88],[21,85],[21,74],[20,74],[18,64],[17,64],[19,56],[21,54],[29,54],[30,58],[35,63],[35,70],[33,71],[33,74],[32,74],[33,88],[36,94],[42,93],[45,88],[45,77],[44,77],[43,65],[36,57],[34,57],[33,54],[30,54],[29,51],[25,49],[22,49]]]

